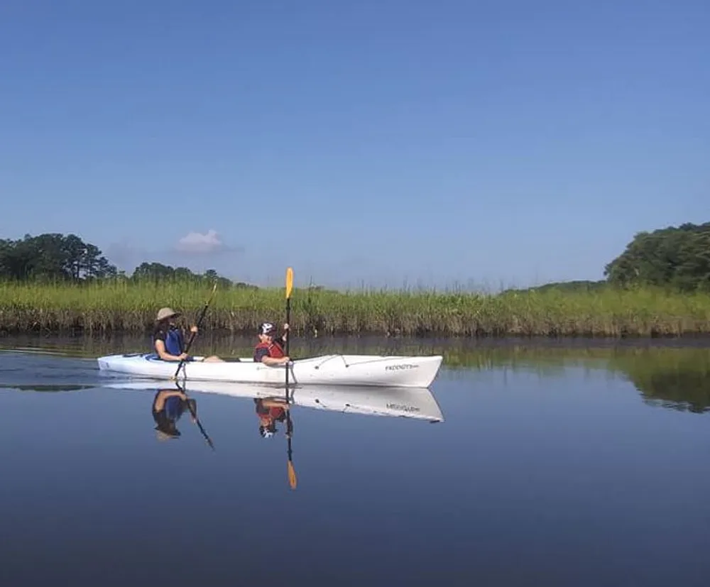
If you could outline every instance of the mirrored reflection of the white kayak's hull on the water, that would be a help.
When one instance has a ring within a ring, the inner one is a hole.
[[[129,380],[104,383],[112,389],[152,390],[174,387],[171,381]],[[231,397],[284,397],[284,390],[258,387],[244,383],[200,381],[187,386],[190,393],[217,393]],[[313,385],[295,388],[289,392],[289,400],[294,405],[312,407],[334,412],[353,412],[371,416],[402,416],[443,422],[444,416],[434,395],[427,388],[386,388],[371,386],[337,387],[335,385]]]

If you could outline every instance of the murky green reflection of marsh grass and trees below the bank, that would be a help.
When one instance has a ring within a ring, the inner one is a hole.
[[[244,337],[203,336],[195,353],[220,356],[250,356],[254,341]],[[72,356],[96,357],[102,354],[147,350],[148,337],[77,337],[73,339],[39,336],[0,338],[0,348],[44,349]],[[418,339],[295,339],[291,355],[312,356],[324,353],[414,354],[440,353],[444,364],[454,370],[483,371],[509,368],[555,375],[564,368],[606,369],[630,380],[645,400],[677,410],[710,410],[710,344],[693,346],[671,344],[604,344],[598,341],[529,340],[430,340]]]

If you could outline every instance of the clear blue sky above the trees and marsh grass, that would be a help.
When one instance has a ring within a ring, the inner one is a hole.
[[[4,0],[0,237],[251,282],[601,278],[710,220],[709,31],[707,0]]]

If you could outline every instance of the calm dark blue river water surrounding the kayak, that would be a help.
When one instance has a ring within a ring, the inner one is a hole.
[[[93,360],[136,344],[0,339],[1,584],[707,585],[703,344],[319,341],[443,351],[444,421],[295,406],[295,490],[249,397],[158,439]]]

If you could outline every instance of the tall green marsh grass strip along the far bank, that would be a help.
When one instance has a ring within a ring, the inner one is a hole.
[[[0,331],[146,332],[165,305],[194,321],[207,295],[209,288],[194,282],[0,282]],[[204,328],[250,334],[263,320],[283,320],[284,302],[283,288],[218,290]],[[496,295],[297,289],[291,325],[300,336],[692,336],[710,334],[710,295],[649,288]]]

